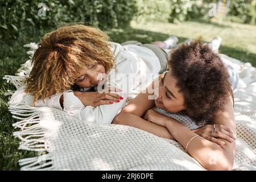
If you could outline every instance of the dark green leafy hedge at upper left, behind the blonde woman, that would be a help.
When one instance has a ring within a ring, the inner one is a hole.
[[[44,0],[46,16],[38,1],[0,1],[0,39],[17,38],[24,30],[48,30],[60,23],[84,22],[102,29],[128,26],[137,14],[135,0]]]

